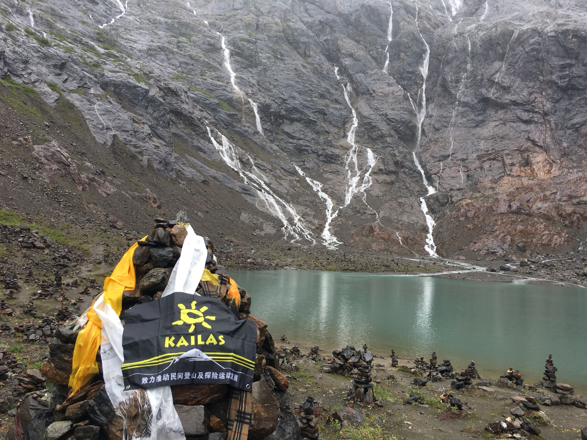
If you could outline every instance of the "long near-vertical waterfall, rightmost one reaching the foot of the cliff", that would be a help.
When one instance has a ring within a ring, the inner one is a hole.
[[[417,156],[417,154],[420,151],[420,139],[422,136],[422,123],[424,121],[424,117],[426,117],[426,79],[428,77],[428,64],[430,61],[430,46],[428,45],[428,43],[426,42],[426,40],[422,36],[422,33],[420,31],[420,26],[418,24],[418,6],[416,6],[416,26],[418,28],[418,32],[420,33],[420,38],[422,39],[422,41],[424,42],[424,45],[426,46],[426,52],[424,53],[422,65],[420,66],[420,73],[422,75],[422,87],[418,91],[418,96],[416,98],[415,103],[411,99],[410,94],[408,94],[411,106],[414,109],[414,113],[416,113],[416,121],[417,121],[417,128],[418,128],[418,131],[416,133],[416,148],[412,152],[412,156],[414,158],[414,164],[416,165],[416,168],[418,168],[418,170],[420,171],[420,174],[422,175],[422,182],[423,182],[424,186],[428,189],[428,194],[426,194],[426,196],[424,196],[424,197],[420,197],[420,209],[424,213],[424,217],[426,218],[426,225],[428,226],[428,234],[426,236],[426,243],[427,244],[424,246],[424,250],[426,250],[426,252],[428,252],[431,256],[438,256],[438,254],[436,253],[436,244],[434,244],[434,237],[432,235],[432,231],[434,229],[434,226],[436,226],[436,223],[434,222],[434,219],[432,218],[432,216],[429,214],[428,207],[426,205],[426,197],[431,194],[434,194],[437,190],[436,190],[436,188],[431,187],[428,184],[428,180],[426,179],[426,175],[424,174],[424,170],[421,167],[420,161],[418,160],[418,156]]]

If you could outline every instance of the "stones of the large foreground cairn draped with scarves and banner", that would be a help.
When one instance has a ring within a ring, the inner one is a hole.
[[[136,289],[123,293],[124,310],[137,303],[157,300],[167,285],[171,270],[177,261],[187,231],[178,221],[156,219],[156,227],[147,239],[139,242],[134,253],[133,263],[136,273]],[[206,268],[217,275],[225,275],[226,269],[217,263],[214,245],[205,238],[208,248]],[[224,285],[223,285],[224,286]],[[239,287],[241,304],[238,310],[241,319],[251,319],[257,326],[257,358],[252,384],[252,421],[249,427],[249,440],[268,438],[299,439],[300,427],[291,412],[287,393],[288,380],[279,368],[279,356],[274,341],[261,319],[251,316],[251,297]],[[226,292],[221,292],[226,295]],[[75,311],[75,310],[74,310]],[[60,309],[57,317],[65,325],[55,329],[49,342],[49,358],[43,364],[42,375],[52,384],[49,391],[32,391],[23,397],[15,414],[17,424],[8,432],[8,439],[15,440],[21,431],[23,438],[75,438],[92,440],[120,440],[131,438],[145,429],[151,417],[149,406],[142,401],[144,394],[130,402],[126,414],[130,419],[124,424],[123,418],[116,414],[100,374],[82,387],[76,394],[69,395],[69,376],[72,372],[72,356],[79,329],[72,325],[76,316],[68,307]],[[67,317],[72,316],[68,322]],[[36,334],[36,330],[35,330]],[[0,351],[2,356],[3,351]],[[6,351],[4,351],[6,353]],[[98,356],[98,361],[100,357]],[[4,361],[0,360],[0,364]],[[24,368],[16,371],[15,365],[0,365],[0,380],[9,371],[21,374]],[[12,368],[12,369],[11,369]],[[100,365],[101,371],[101,365]],[[31,374],[20,376],[19,386],[32,390],[35,381]],[[27,385],[26,387],[24,385]],[[224,384],[188,384],[171,387],[173,401],[188,438],[202,440],[221,440],[226,438],[227,408],[230,391]],[[141,397],[142,396],[142,397]],[[147,408],[147,409],[146,409]],[[18,429],[17,429],[18,428]],[[269,436],[269,437],[268,437]],[[313,437],[316,438],[316,437]]]

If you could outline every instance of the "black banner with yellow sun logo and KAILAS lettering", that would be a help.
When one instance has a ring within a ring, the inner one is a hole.
[[[220,300],[176,292],[124,312],[127,390],[229,384],[251,390],[257,328]]]

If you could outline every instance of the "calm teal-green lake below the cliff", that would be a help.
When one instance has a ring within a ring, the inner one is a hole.
[[[434,277],[305,270],[249,270],[234,279],[252,297],[276,345],[347,343],[400,358],[473,359],[481,377],[514,367],[542,379],[548,354],[558,382],[587,391],[587,289]],[[330,354],[325,352],[326,355]]]

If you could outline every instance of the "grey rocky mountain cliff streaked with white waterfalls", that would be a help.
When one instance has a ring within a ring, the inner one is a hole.
[[[8,209],[447,258],[586,238],[581,0],[0,0],[0,23]]]

